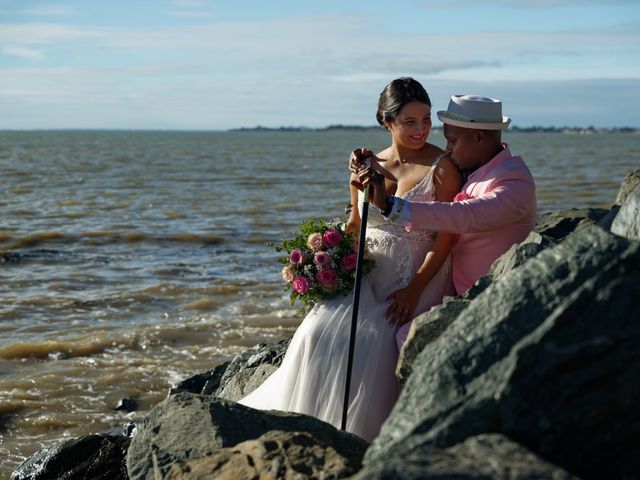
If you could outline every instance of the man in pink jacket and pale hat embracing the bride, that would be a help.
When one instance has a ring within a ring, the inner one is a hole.
[[[502,115],[500,100],[453,95],[438,118],[444,124],[446,151],[466,178],[452,203],[416,203],[387,195],[382,176],[362,162],[369,155],[365,149],[354,152],[350,168],[363,186],[373,186],[373,203],[390,223],[408,231],[459,234],[451,257],[453,283],[460,295],[511,245],[529,235],[537,216],[535,184],[524,160],[502,143],[502,130],[511,120]],[[410,325],[398,331],[398,346],[406,340]]]

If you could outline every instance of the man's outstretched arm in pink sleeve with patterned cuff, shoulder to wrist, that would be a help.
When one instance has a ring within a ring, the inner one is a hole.
[[[499,182],[491,191],[460,202],[408,202],[393,197],[387,219],[407,230],[473,233],[511,225],[535,208],[535,185],[529,175]]]

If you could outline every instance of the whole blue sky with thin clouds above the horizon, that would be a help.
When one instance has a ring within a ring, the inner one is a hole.
[[[640,0],[0,0],[0,129],[374,125],[401,76],[640,127]]]

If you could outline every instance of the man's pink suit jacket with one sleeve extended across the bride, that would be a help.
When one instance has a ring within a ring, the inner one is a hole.
[[[524,240],[536,223],[533,176],[509,146],[473,172],[462,187],[464,200],[407,202],[395,198],[388,219],[407,230],[458,233],[451,251],[453,284],[458,294],[489,272],[511,245]],[[460,195],[460,194],[459,194]]]

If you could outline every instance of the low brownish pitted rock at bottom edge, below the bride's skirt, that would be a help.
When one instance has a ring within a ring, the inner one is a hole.
[[[173,464],[164,478],[328,480],[346,478],[360,467],[359,459],[344,457],[333,445],[319,441],[309,433],[270,431],[207,457]]]

